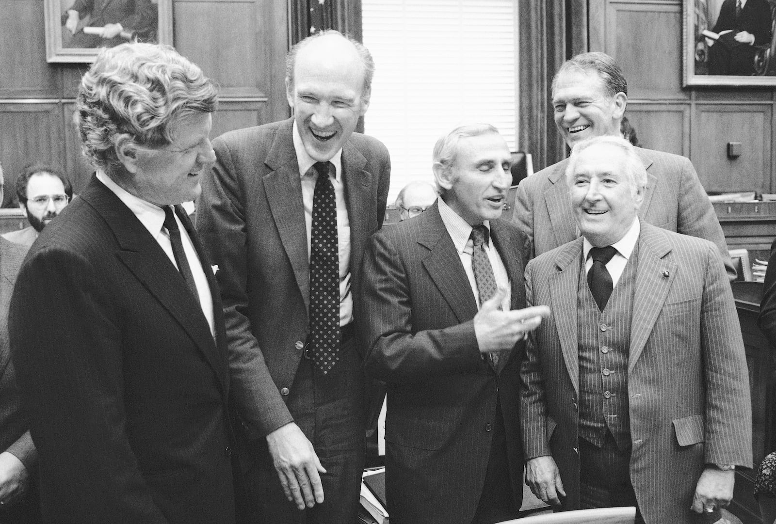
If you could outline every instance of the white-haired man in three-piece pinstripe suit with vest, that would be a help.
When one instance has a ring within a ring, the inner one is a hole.
[[[521,369],[528,485],[562,509],[635,505],[637,522],[690,523],[751,466],[747,363],[733,295],[708,240],[639,221],[646,171],[598,136],[566,180],[583,237],[526,269],[553,318]]]

